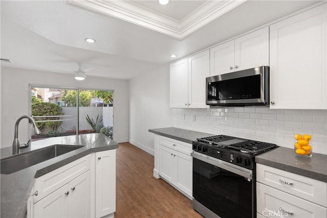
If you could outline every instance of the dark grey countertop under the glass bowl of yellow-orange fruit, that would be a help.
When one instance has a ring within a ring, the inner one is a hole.
[[[310,158],[298,157],[293,149],[279,147],[256,156],[255,162],[327,182],[327,155],[313,153]]]

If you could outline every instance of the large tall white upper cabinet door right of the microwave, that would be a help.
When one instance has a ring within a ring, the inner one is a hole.
[[[326,109],[326,5],[270,26],[270,108]]]

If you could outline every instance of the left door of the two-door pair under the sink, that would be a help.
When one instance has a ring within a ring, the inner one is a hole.
[[[69,195],[65,191],[66,185],[34,204],[34,217],[67,217]]]

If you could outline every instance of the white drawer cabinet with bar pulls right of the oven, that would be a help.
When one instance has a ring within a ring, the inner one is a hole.
[[[327,217],[327,183],[263,164],[256,166],[257,217]]]

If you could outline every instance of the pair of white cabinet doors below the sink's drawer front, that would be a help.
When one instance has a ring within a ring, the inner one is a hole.
[[[90,172],[34,204],[34,217],[90,217]]]

